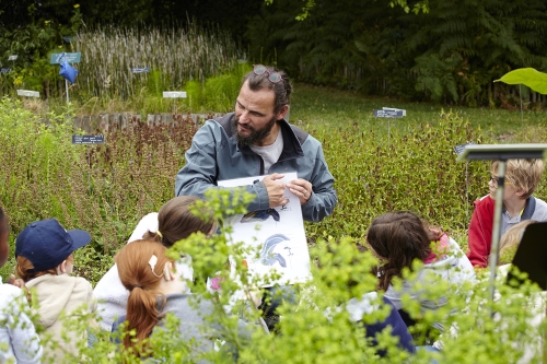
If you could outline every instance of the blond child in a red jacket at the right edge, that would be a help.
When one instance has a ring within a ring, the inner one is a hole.
[[[503,187],[503,210],[500,236],[523,220],[547,221],[547,203],[532,196],[544,173],[542,160],[509,160]],[[492,242],[493,208],[498,188],[498,161],[492,163],[488,181],[490,193],[475,201],[468,232],[469,258],[474,267],[488,263]]]

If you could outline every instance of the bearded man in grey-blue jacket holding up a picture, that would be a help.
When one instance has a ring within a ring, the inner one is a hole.
[[[248,211],[288,203],[283,173],[296,172],[287,184],[306,221],[328,216],[336,203],[335,181],[321,143],[284,120],[292,85],[289,77],[272,67],[257,64],[243,78],[235,113],[208,120],[194,136],[186,165],[178,172],[175,195],[203,198],[218,180],[265,175],[246,186],[256,196]]]

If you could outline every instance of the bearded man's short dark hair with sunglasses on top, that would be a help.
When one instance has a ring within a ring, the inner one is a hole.
[[[289,80],[289,75],[283,71],[280,71],[274,67],[266,67],[267,72],[263,74],[255,74],[254,71],[248,72],[243,78],[242,86],[248,81],[248,87],[252,91],[260,91],[263,89],[268,89],[274,91],[276,98],[274,101],[274,113],[278,113],[284,105],[289,105],[291,102],[292,84]],[[278,72],[281,75],[281,81],[271,82],[268,77],[270,73]]]

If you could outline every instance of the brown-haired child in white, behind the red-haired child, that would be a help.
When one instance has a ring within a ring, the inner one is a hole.
[[[212,219],[203,221],[194,215],[189,208],[198,200],[197,197],[179,196],[168,200],[160,212],[152,212],[141,219],[129,243],[138,239],[150,239],[171,247],[179,239],[190,236],[195,232],[210,234],[216,224]],[[177,265],[177,270],[185,279],[193,279],[190,257],[183,258],[183,263]],[[114,320],[126,314],[129,292],[119,280],[118,269],[113,266],[95,286],[95,296],[98,300],[98,314],[101,328],[110,331]]]

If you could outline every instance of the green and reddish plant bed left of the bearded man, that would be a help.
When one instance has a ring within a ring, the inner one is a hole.
[[[90,232],[93,240],[75,253],[75,270],[96,282],[136,222],[173,196],[181,150],[189,148],[196,129],[193,122],[154,129],[133,119],[131,131],[112,130],[104,145],[72,145],[79,131],[71,113],[39,120],[21,102],[1,99],[0,155],[11,162],[0,173],[0,200],[13,235],[50,218]],[[9,273],[2,271],[4,279]]]

